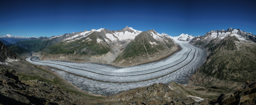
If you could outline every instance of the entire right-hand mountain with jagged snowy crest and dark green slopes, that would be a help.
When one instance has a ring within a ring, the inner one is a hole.
[[[191,77],[191,83],[233,89],[246,81],[255,81],[256,43],[239,31],[229,28],[217,36],[212,33],[218,30],[193,38],[190,43],[205,48],[209,56]]]

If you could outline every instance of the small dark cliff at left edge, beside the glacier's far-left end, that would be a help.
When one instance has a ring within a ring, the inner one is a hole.
[[[0,62],[5,62],[7,58],[16,59],[17,56],[4,43],[0,42]]]

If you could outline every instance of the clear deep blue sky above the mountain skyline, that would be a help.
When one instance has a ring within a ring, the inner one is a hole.
[[[178,36],[239,28],[256,34],[254,0],[1,0],[0,35],[56,36],[126,26]]]

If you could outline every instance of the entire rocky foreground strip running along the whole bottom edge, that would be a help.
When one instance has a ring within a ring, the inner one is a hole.
[[[0,104],[100,104],[100,105],[256,105],[256,82],[247,82],[234,94],[218,99],[196,102],[189,92],[178,84],[153,84],[123,91],[108,97],[86,96],[50,85],[42,80],[20,81],[13,69],[0,67]]]

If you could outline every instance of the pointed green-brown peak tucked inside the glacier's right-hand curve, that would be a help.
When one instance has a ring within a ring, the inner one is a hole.
[[[114,62],[122,62],[122,64],[146,63],[159,58],[159,55],[169,55],[171,52],[177,50],[177,48],[175,50],[175,47],[177,47],[177,45],[171,38],[162,36],[155,30],[148,30],[138,34],[134,40],[122,50]],[[141,59],[146,59],[146,61]]]

